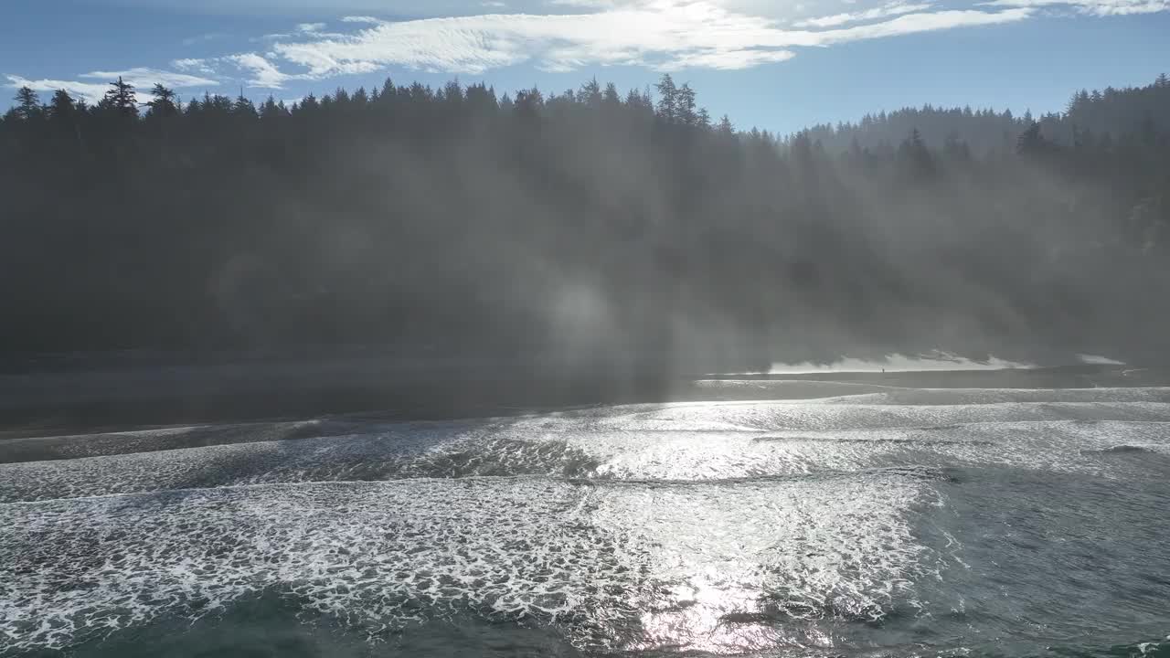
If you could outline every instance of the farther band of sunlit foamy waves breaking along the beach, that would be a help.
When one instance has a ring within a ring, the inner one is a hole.
[[[1093,418],[1120,420],[1083,421]],[[1087,453],[1170,444],[1166,419],[1170,405],[1145,402],[610,407],[7,464],[0,465],[0,502],[322,480],[543,474],[681,481],[906,465],[1003,465],[1124,477],[1134,464]]]

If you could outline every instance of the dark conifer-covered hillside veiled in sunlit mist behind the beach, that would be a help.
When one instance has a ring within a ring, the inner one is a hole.
[[[1129,118],[1073,142],[996,115],[1007,146],[984,149],[966,111],[886,115],[888,143],[862,143],[873,117],[832,139],[737,131],[670,76],[653,95],[387,81],[290,107],[21,89],[0,122],[0,348],[376,343],[682,369],[1157,349],[1170,130],[1133,117],[1149,98],[1170,116],[1165,97],[1164,77],[1078,95],[1060,125]]]

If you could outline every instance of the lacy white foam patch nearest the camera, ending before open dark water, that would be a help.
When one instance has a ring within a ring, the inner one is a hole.
[[[0,505],[0,652],[261,591],[376,636],[461,612],[557,624],[583,649],[743,649],[768,631],[727,616],[769,601],[880,617],[911,597],[934,568],[907,521],[923,487],[494,478]]]

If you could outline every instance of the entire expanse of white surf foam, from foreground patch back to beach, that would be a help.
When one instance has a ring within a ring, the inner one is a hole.
[[[0,653],[261,592],[376,637],[470,614],[585,650],[824,646],[805,618],[924,605],[941,557],[910,519],[938,467],[1131,477],[1170,453],[1166,396],[628,405],[0,465]]]

